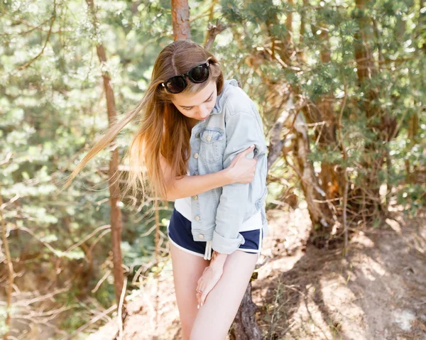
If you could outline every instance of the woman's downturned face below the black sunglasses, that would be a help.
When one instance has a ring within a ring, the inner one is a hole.
[[[204,89],[196,94],[174,94],[172,99],[176,108],[185,116],[204,120],[212,112],[216,104],[216,82],[210,81]]]

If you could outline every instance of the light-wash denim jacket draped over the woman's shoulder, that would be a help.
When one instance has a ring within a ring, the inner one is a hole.
[[[262,233],[268,234],[266,220],[266,141],[261,116],[255,104],[235,79],[224,81],[216,104],[204,121],[198,121],[190,137],[190,175],[205,175],[229,167],[231,160],[252,144],[247,158],[258,158],[250,183],[232,183],[191,197],[192,236],[207,241],[204,258],[211,249],[230,254],[245,242],[241,224],[261,211]]]

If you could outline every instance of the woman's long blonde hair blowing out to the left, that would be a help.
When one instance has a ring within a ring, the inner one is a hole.
[[[202,83],[193,83],[186,79],[187,87],[182,94],[200,92],[211,81],[216,82],[217,94],[220,94],[224,84],[222,67],[214,55],[191,40],[176,40],[163,48],[155,60],[151,83],[141,101],[134,109],[127,112],[123,119],[113,124],[104,133],[104,136],[72,171],[62,190],[70,185],[89,160],[111,143],[121,129],[141,113],[138,130],[124,156],[124,159],[129,158],[129,173],[126,176],[122,196],[129,191],[133,195],[138,194],[140,184],[142,199],[148,194],[151,197],[163,199],[165,202],[167,183],[160,168],[160,154],[168,162],[175,176],[186,175],[186,162],[190,155],[191,128],[190,119],[178,111],[171,102],[173,94],[167,92],[165,87],[160,84],[170,77],[182,75],[207,59],[211,60],[209,79]],[[143,168],[146,168],[148,180]],[[119,176],[116,177],[118,180]]]

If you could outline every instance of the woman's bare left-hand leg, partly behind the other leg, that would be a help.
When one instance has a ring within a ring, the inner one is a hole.
[[[197,297],[195,289],[197,281],[201,277],[204,268],[210,261],[204,260],[170,244],[172,257],[173,282],[175,283],[175,294],[178,302],[180,322],[182,324],[182,339],[190,339],[192,324],[197,317]]]

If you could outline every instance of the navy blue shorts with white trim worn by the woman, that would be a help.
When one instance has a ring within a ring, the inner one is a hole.
[[[191,221],[180,214],[178,210],[173,209],[173,214],[170,217],[170,224],[167,227],[168,238],[178,248],[192,253],[197,256],[204,257],[206,251],[206,241],[194,241],[191,232]],[[244,244],[239,246],[239,250],[247,253],[258,253],[258,258],[261,256],[261,247],[263,241],[262,227],[259,229],[240,231],[246,240]],[[210,254],[211,256],[212,254]]]

